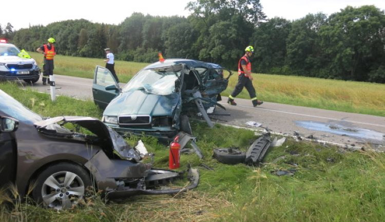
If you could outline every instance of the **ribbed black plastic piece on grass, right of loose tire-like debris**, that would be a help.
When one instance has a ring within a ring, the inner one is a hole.
[[[245,164],[254,165],[262,162],[271,143],[270,134],[264,134],[256,139],[246,152]]]

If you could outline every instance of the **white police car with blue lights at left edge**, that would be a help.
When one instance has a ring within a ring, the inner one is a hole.
[[[40,68],[27,52],[0,39],[0,80],[23,79],[36,83],[39,77]]]

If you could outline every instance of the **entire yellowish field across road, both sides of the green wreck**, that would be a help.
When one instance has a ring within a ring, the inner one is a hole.
[[[38,63],[42,62],[41,54],[30,54]],[[93,78],[96,65],[105,66],[105,63],[101,58],[57,55],[54,73]],[[121,82],[126,83],[146,65],[116,61],[115,70]],[[258,99],[266,102],[385,116],[385,84],[259,73],[254,73],[253,76]],[[228,96],[234,90],[237,80],[235,71],[222,95]],[[245,89],[238,97],[249,98]]]

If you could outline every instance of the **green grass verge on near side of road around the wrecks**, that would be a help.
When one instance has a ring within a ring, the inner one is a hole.
[[[65,96],[55,103],[49,95],[0,83],[0,89],[42,115],[99,117],[91,102]],[[71,107],[71,109],[66,108]],[[224,165],[214,160],[213,148],[246,150],[257,137],[253,131],[192,122],[192,131],[204,154],[182,155],[181,166],[198,167],[197,189],[177,195],[136,196],[105,203],[86,199],[79,207],[56,212],[16,201],[0,206],[0,221],[383,221],[385,217],[385,154],[344,151],[336,147],[298,143],[288,139],[269,149],[261,166]],[[143,137],[155,166],[167,168],[168,149],[152,137]],[[138,137],[127,141],[133,144]],[[214,171],[199,167],[204,163]],[[276,175],[292,170],[294,175]],[[0,203],[6,200],[0,192]]]

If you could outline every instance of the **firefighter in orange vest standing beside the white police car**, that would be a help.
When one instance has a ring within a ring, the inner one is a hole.
[[[53,75],[53,57],[56,55],[56,50],[53,44],[55,39],[50,37],[48,38],[48,43],[36,49],[37,52],[44,54],[43,62],[43,85],[47,85],[47,78],[50,75]],[[48,79],[49,83],[49,79]]]

